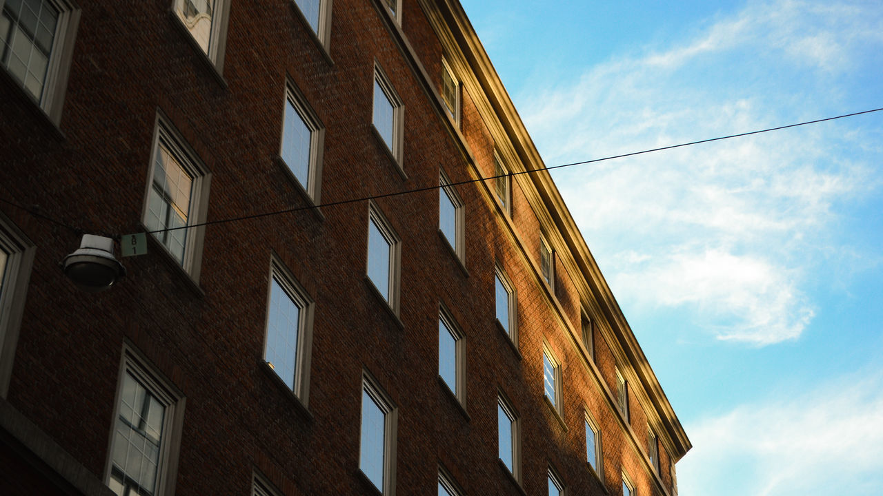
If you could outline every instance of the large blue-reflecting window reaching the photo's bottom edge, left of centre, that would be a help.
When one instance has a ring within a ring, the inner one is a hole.
[[[362,434],[358,468],[383,494],[391,494],[396,470],[396,410],[374,380],[362,380]]]

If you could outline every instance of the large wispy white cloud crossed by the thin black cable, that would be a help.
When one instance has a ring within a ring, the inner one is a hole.
[[[883,49],[881,21],[872,3],[756,2],[516,100],[549,165],[826,116],[854,109],[852,71],[879,71],[867,54]],[[811,322],[804,278],[837,251],[838,206],[879,186],[869,141],[819,124],[555,177],[617,297],[762,346]]]

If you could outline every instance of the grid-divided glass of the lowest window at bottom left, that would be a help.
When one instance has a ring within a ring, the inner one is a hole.
[[[160,463],[165,407],[126,372],[119,411],[110,488],[120,495],[126,492],[152,494]]]

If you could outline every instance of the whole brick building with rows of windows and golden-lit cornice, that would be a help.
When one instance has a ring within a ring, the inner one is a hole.
[[[0,6],[0,494],[676,493],[457,0]]]

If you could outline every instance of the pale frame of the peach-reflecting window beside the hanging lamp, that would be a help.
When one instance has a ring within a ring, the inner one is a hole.
[[[183,169],[192,176],[191,192],[190,192],[190,210],[187,215],[187,231],[185,240],[184,257],[180,261],[177,260],[162,239],[153,235],[156,243],[162,246],[171,259],[175,260],[185,272],[190,275],[194,282],[200,281],[200,269],[202,266],[202,244],[205,239],[206,228],[203,222],[206,222],[208,212],[208,186],[211,183],[211,173],[208,172],[205,164],[200,161],[199,157],[193,152],[185,140],[181,138],[172,124],[161,114],[157,113],[156,123],[154,126],[154,140],[150,152],[150,164],[147,167],[147,185],[144,189],[144,206],[141,211],[141,222],[147,229],[147,214],[150,208],[150,195],[153,188],[154,172],[156,167],[156,155],[159,148],[165,148],[172,155]],[[194,227],[189,227],[194,226]]]

